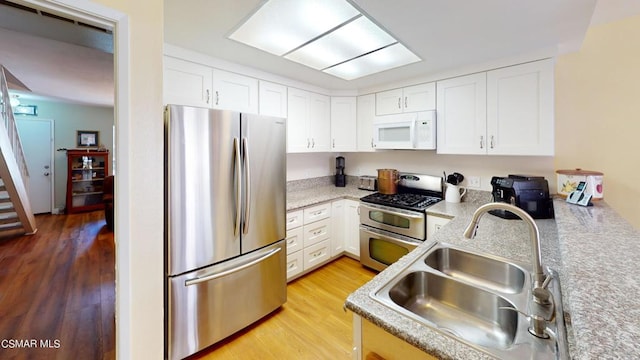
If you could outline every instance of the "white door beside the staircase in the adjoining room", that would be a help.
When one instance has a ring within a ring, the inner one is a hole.
[[[29,200],[34,214],[51,212],[53,204],[53,120],[17,119],[29,170]]]

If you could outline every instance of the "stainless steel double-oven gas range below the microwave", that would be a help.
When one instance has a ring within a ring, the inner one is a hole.
[[[383,270],[427,239],[426,209],[442,201],[443,179],[400,173],[398,193],[360,199],[360,263]]]

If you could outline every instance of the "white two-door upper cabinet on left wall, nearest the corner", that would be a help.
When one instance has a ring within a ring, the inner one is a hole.
[[[331,151],[331,101],[328,96],[289,88],[287,108],[287,152]]]

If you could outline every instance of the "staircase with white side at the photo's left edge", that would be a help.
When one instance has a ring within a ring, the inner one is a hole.
[[[29,201],[29,172],[9,98],[5,68],[0,65],[0,238],[35,234]]]

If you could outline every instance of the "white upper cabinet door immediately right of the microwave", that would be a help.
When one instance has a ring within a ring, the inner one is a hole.
[[[438,154],[486,154],[486,73],[437,83]]]

